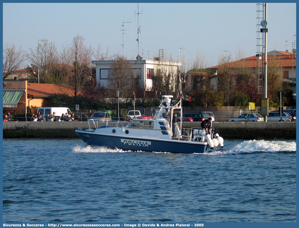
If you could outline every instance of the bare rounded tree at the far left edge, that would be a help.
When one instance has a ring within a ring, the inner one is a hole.
[[[16,50],[14,44],[6,44],[3,48],[3,79],[8,78],[13,71],[18,70],[26,60],[26,52],[19,47]]]

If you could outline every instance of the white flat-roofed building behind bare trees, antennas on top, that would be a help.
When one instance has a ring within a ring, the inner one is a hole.
[[[152,87],[152,76],[160,72],[163,73],[178,73],[180,63],[154,61],[154,60],[127,60],[132,64],[134,76],[140,78],[141,85],[145,90],[150,90]],[[92,61],[95,64],[97,82],[100,82],[104,87],[108,87],[109,71],[114,61]]]

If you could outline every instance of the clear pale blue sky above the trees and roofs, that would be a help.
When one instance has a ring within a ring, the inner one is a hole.
[[[210,66],[225,53],[234,58],[237,50],[254,56],[256,10],[256,3],[139,3],[139,55],[153,59],[164,49],[177,61],[182,47],[182,58],[190,62],[199,54]],[[79,34],[86,46],[100,44],[111,54],[124,48],[124,55],[135,59],[137,12],[137,3],[3,3],[3,46],[29,52],[45,38],[60,50]],[[124,23],[124,43],[123,22],[132,22]],[[268,29],[268,51],[291,51],[296,3],[268,3]]]

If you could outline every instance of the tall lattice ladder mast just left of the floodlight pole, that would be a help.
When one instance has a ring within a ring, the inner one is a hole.
[[[257,3],[257,34],[256,34],[256,57],[257,57],[257,93],[263,91],[263,53],[264,39],[260,32],[260,22],[264,20],[264,3]]]

